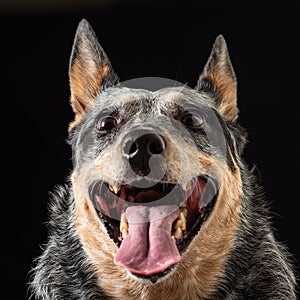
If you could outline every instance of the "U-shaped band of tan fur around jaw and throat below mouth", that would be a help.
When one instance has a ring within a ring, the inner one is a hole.
[[[73,173],[76,233],[100,288],[112,299],[204,299],[211,295],[225,269],[240,219],[240,174],[230,170],[226,173],[210,217],[182,254],[174,271],[156,284],[135,278],[114,264],[117,246],[107,235]],[[236,189],[229,189],[230,186]],[[224,234],[220,235],[220,231]]]

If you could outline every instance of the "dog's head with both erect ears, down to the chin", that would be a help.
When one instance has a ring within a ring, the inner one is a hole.
[[[199,271],[202,280],[215,273],[239,219],[244,141],[224,39],[216,40],[196,89],[149,91],[118,82],[82,21],[70,84],[76,224],[94,264],[97,253],[111,251],[114,270],[156,282],[193,268],[191,256],[215,256]]]

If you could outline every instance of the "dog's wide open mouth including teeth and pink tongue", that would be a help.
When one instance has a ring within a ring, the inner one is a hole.
[[[122,185],[97,181],[89,193],[119,247],[115,264],[156,282],[180,261],[209,217],[217,182],[202,175],[184,185],[146,179]]]

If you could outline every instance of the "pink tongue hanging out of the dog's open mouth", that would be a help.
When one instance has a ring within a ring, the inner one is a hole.
[[[135,274],[153,275],[179,262],[180,254],[171,236],[178,214],[175,205],[128,207],[129,234],[115,256],[115,264]]]

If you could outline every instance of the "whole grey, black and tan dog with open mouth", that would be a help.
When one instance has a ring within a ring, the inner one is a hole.
[[[296,299],[291,255],[242,158],[222,36],[195,88],[151,90],[119,81],[82,20],[69,76],[74,169],[53,193],[33,297]]]

